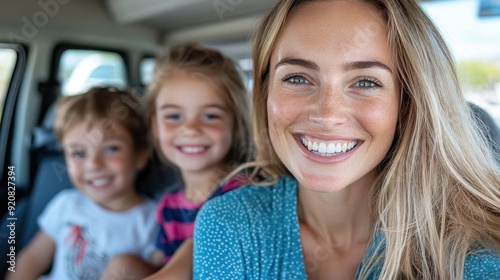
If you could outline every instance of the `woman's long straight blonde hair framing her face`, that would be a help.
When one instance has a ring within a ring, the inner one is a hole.
[[[320,0],[325,1],[325,0]],[[268,132],[269,62],[290,11],[318,0],[283,0],[263,19],[253,44],[254,183],[290,175]],[[401,83],[394,144],[373,188],[385,250],[380,279],[461,279],[468,253],[500,248],[500,171],[474,123],[446,43],[415,0],[367,0],[384,16]],[[262,181],[260,178],[266,178]]]

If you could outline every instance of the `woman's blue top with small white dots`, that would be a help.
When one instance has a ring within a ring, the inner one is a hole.
[[[297,181],[289,177],[271,187],[245,187],[207,202],[196,218],[194,278],[307,279],[296,213]],[[363,259],[375,248],[383,249],[381,242],[383,236],[377,234]],[[369,279],[378,279],[379,272],[380,266]],[[469,255],[464,279],[500,280],[500,255]]]

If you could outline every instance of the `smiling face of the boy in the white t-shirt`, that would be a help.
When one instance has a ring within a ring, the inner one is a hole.
[[[62,145],[77,189],[111,210],[126,210],[137,201],[134,180],[146,164],[147,151],[136,151],[123,125],[111,122],[101,129],[80,123],[66,132]]]

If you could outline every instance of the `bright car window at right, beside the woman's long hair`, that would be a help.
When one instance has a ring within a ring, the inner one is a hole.
[[[429,1],[422,6],[457,60],[467,100],[485,109],[500,127],[500,16],[487,2],[494,1]]]

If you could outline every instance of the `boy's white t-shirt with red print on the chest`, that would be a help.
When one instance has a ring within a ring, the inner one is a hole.
[[[115,212],[76,189],[61,191],[38,218],[40,229],[56,243],[52,270],[43,279],[99,279],[108,261],[124,253],[150,260],[157,234],[155,209],[156,203],[147,200]]]

